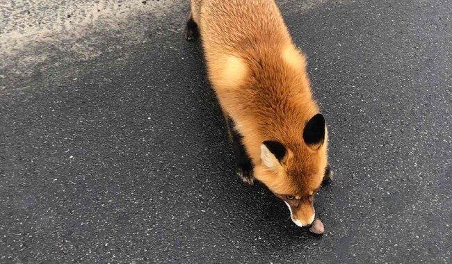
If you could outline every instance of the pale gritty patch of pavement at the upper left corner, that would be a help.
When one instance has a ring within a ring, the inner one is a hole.
[[[92,47],[97,42],[87,36],[99,31],[127,35],[129,42],[125,44],[143,42],[147,32],[143,28],[156,25],[131,25],[138,24],[143,17],[159,20],[177,6],[188,8],[188,3],[183,0],[1,1],[0,72],[25,74],[55,50],[71,51],[77,60],[95,58],[101,52]],[[50,47],[49,50],[42,49],[43,45]],[[26,51],[33,52],[24,56]]]

